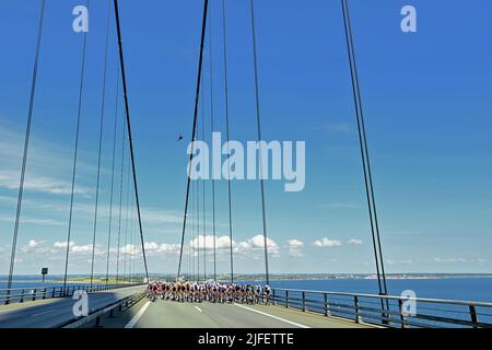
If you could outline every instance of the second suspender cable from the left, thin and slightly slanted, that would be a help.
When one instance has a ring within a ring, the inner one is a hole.
[[[101,122],[99,122],[99,152],[97,159],[97,183],[96,183],[96,200],[94,209],[94,232],[92,236],[92,261],[91,261],[91,285],[94,279],[94,257],[95,257],[95,243],[96,243],[96,232],[97,232],[97,209],[99,205],[99,178],[101,178],[101,155],[103,149],[103,127],[104,127],[104,108],[106,102],[106,75],[107,75],[107,52],[109,47],[109,15],[110,15],[112,4],[108,1],[107,7],[107,21],[106,21],[106,50],[104,52],[104,73],[103,73],[103,101],[101,104]]]

